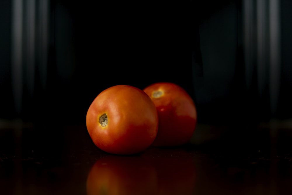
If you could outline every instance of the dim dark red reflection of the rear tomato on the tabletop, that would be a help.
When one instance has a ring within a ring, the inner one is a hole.
[[[158,189],[155,195],[192,195],[195,192],[196,167],[183,149],[150,148],[142,154],[156,169]]]

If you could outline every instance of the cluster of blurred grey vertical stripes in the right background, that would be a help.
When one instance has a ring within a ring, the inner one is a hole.
[[[274,115],[281,82],[280,1],[244,0],[243,7],[246,87],[256,78],[255,99]]]

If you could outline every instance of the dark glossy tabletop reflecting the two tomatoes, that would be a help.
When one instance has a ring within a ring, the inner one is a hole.
[[[190,143],[112,155],[85,124],[0,124],[1,194],[285,194],[291,122],[198,124]]]

